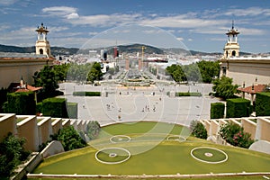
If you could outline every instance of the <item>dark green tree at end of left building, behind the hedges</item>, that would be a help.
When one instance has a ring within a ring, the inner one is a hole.
[[[34,73],[34,85],[35,86],[42,86],[41,89],[42,94],[44,97],[52,97],[56,94],[56,89],[58,86],[58,79],[53,67],[45,66],[43,67],[40,72]]]

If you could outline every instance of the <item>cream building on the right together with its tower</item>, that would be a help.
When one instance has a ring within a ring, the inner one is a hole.
[[[234,29],[227,33],[223,57],[220,59],[220,76],[233,78],[233,83],[243,86],[270,84],[270,57],[239,57],[239,32]],[[256,42],[254,42],[256,46]]]

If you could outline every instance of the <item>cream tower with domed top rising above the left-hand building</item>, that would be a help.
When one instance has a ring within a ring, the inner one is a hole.
[[[47,30],[47,27],[44,27],[43,23],[41,23],[41,26],[38,26],[36,31],[38,32],[38,40],[36,41],[36,54],[44,54],[50,57],[50,46],[49,41],[47,40],[47,33],[49,31]]]

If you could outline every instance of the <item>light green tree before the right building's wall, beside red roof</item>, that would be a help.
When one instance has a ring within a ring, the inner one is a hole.
[[[232,78],[221,76],[213,82],[212,90],[216,92],[217,97],[223,99],[233,98],[234,94],[239,93],[238,85],[232,85]]]

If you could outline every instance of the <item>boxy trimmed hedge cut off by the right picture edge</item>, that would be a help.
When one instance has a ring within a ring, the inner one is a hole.
[[[269,116],[270,115],[270,93],[257,93],[256,94],[256,115]]]

